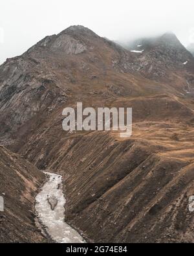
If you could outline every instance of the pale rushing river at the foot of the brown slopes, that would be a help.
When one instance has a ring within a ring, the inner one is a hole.
[[[36,211],[41,224],[46,227],[47,233],[56,242],[85,242],[80,234],[64,221],[66,200],[63,195],[62,177],[50,172],[45,172],[45,174],[49,176],[49,180],[36,196]],[[48,197],[50,196],[54,196],[58,200],[54,210],[48,204]]]

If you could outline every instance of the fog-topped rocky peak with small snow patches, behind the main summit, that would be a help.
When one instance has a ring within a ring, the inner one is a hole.
[[[125,44],[125,48],[136,53],[136,69],[148,78],[164,80],[184,67],[193,74],[193,56],[173,33],[140,38]]]

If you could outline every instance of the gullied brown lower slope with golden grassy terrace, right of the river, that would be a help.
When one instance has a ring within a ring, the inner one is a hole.
[[[193,242],[192,172],[186,184],[184,176],[176,180],[182,168],[188,172],[193,166],[193,105],[167,95],[125,97],[113,104],[133,107],[131,139],[116,132],[67,134],[58,110],[29,137],[21,154],[67,179],[66,218],[89,239]]]

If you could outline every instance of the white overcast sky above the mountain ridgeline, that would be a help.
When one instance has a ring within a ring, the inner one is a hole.
[[[194,42],[193,0],[1,0],[0,64],[47,35],[83,25],[111,40],[175,32]]]

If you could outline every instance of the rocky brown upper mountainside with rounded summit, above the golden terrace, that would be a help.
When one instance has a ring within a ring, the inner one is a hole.
[[[1,143],[17,151],[17,146],[25,143],[24,135],[36,134],[32,129],[41,126],[40,122],[78,101],[98,107],[124,97],[167,94],[188,102],[186,90],[194,87],[194,71],[182,64],[184,49],[175,48],[176,44],[172,47],[167,41],[154,48],[153,54],[145,52],[138,58],[83,27],[71,27],[41,40],[0,67]],[[160,51],[165,54],[158,61]],[[141,65],[146,67],[143,73]],[[152,66],[165,75],[155,74]]]

